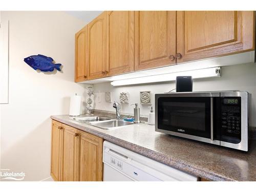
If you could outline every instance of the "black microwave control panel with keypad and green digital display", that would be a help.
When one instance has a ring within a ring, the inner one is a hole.
[[[241,97],[221,98],[221,140],[241,141]]]

